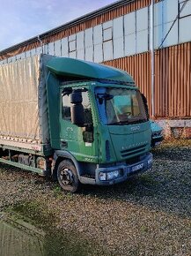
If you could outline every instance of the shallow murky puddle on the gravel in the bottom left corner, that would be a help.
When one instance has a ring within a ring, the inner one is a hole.
[[[77,234],[64,234],[59,230],[44,232],[18,216],[0,213],[0,256],[86,256],[94,253],[95,247],[80,240]]]

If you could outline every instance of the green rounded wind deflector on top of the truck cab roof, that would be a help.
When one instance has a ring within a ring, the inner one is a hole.
[[[54,57],[48,62],[47,67],[50,72],[64,77],[110,79],[135,84],[127,72],[108,67],[104,64],[95,64],[73,58]]]

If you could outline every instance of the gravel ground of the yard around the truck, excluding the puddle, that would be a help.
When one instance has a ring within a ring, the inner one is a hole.
[[[56,253],[46,255],[191,255],[191,140],[165,142],[153,154],[151,172],[78,194],[2,164],[0,211],[63,232]],[[71,248],[88,248],[63,253],[67,237]]]

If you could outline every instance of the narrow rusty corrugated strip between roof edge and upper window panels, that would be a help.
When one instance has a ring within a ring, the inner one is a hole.
[[[41,39],[41,41],[46,44],[51,41],[57,41],[59,39],[62,39],[66,36],[69,36],[71,34],[77,34],[77,32],[84,31],[84,29],[90,28],[92,26],[97,26],[101,23],[107,22],[108,20],[112,20],[115,18],[118,18],[124,14],[127,14],[131,11],[136,11],[138,9],[141,9],[145,6],[148,6],[151,4],[151,0],[132,0],[132,1],[127,1],[127,4],[124,4],[120,7],[114,8],[111,11],[106,11],[105,13],[98,15],[97,17],[93,19],[85,19],[84,21],[79,22],[77,25],[72,25],[71,26],[63,29],[59,33],[55,33],[54,30],[52,31],[51,34],[48,36],[44,36],[44,38]],[[8,58],[11,56],[18,55],[22,52],[26,52],[27,50],[30,49],[35,49],[40,47],[40,41],[34,41],[33,43],[26,44],[24,47],[19,47],[18,49],[15,49],[13,51],[7,52],[6,54],[1,54],[0,53],[0,60],[3,60],[4,58]]]

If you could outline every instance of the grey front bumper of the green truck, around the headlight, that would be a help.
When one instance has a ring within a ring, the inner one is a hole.
[[[117,184],[121,183],[129,178],[129,176],[136,174],[138,172],[143,172],[148,169],[152,168],[152,154],[147,154],[142,161],[136,162],[134,164],[121,164],[116,165],[112,167],[105,167],[105,168],[97,168],[95,171],[96,177],[95,177],[95,184],[99,185],[109,185],[109,184]],[[110,172],[120,169],[121,170],[121,177],[114,178],[112,180],[99,180],[99,173],[103,172]]]

